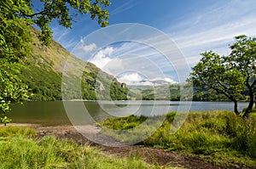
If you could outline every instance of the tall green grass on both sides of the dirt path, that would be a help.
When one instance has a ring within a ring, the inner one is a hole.
[[[224,167],[256,166],[256,110],[249,118],[241,118],[229,111],[189,113],[183,126],[171,134],[171,124],[177,113],[168,113],[166,120],[154,134],[139,144],[166,149],[189,158],[200,158]],[[155,116],[159,118],[159,116]],[[178,117],[178,116],[177,116]],[[145,116],[130,115],[108,118],[103,127],[124,132],[135,128]],[[149,119],[150,120],[150,119]],[[152,118],[153,120],[153,118]],[[150,122],[149,122],[150,123]],[[143,131],[151,130],[150,126]],[[103,131],[104,132],[104,131]],[[53,136],[37,138],[36,131],[27,127],[0,127],[0,167],[3,168],[176,168],[173,166],[149,165],[139,156],[117,158],[103,155],[95,147],[60,141]],[[105,132],[106,133],[106,132]],[[124,141],[119,135],[108,135]],[[15,156],[15,158],[14,158]],[[138,159],[139,158],[139,159]]]

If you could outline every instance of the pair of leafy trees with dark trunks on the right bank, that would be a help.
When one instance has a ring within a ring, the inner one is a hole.
[[[200,62],[192,68],[189,80],[195,87],[202,87],[218,94],[223,94],[234,102],[237,110],[241,92],[249,93],[249,104],[243,116],[247,116],[253,108],[253,94],[256,86],[256,38],[239,36],[230,45],[231,52],[227,56],[205,52]]]

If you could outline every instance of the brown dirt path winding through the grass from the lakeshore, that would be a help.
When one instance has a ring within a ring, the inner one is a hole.
[[[26,126],[26,125],[15,125],[15,126]],[[40,127],[37,125],[27,125],[26,127],[33,127],[38,131],[38,137],[44,137],[46,135],[54,135],[59,139],[73,139],[78,144],[90,144],[91,146],[98,147],[102,153],[106,155],[111,155],[113,157],[131,157],[137,156],[143,159],[143,161],[148,162],[149,164],[159,164],[161,166],[171,165],[171,166],[180,166],[183,168],[207,168],[207,169],[222,169],[226,168],[224,166],[216,166],[213,162],[202,161],[199,157],[191,157],[188,155],[179,154],[176,152],[166,151],[165,149],[154,149],[144,147],[142,145],[132,145],[132,146],[121,146],[113,138],[110,138],[106,135],[100,133],[101,128],[88,126],[87,130],[84,130],[83,133],[77,132],[73,126],[58,126],[58,127]],[[83,127],[84,128],[84,127]],[[104,141],[105,144],[114,143],[115,147],[105,146],[102,144],[96,144],[91,142],[90,139],[98,139],[97,141]],[[116,146],[119,145],[119,146]],[[231,167],[229,167],[231,168]],[[234,168],[247,168],[243,166],[234,166]]]

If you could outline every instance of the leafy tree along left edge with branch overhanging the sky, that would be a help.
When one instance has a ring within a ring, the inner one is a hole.
[[[32,0],[2,0],[0,2],[0,113],[6,125],[11,102],[28,99],[28,88],[19,78],[20,60],[29,56],[32,42],[31,26],[41,29],[39,39],[49,45],[52,31],[49,23],[72,28],[77,14],[90,14],[101,26],[108,25],[108,0],[40,0],[42,9],[35,11]]]

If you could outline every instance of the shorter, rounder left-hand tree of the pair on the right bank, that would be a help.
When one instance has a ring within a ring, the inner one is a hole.
[[[190,81],[195,87],[202,87],[206,91],[223,94],[227,99],[234,102],[234,111],[239,115],[237,109],[237,98],[244,89],[244,78],[240,71],[230,69],[225,63],[224,57],[218,54],[205,52],[200,62],[192,68]]]

